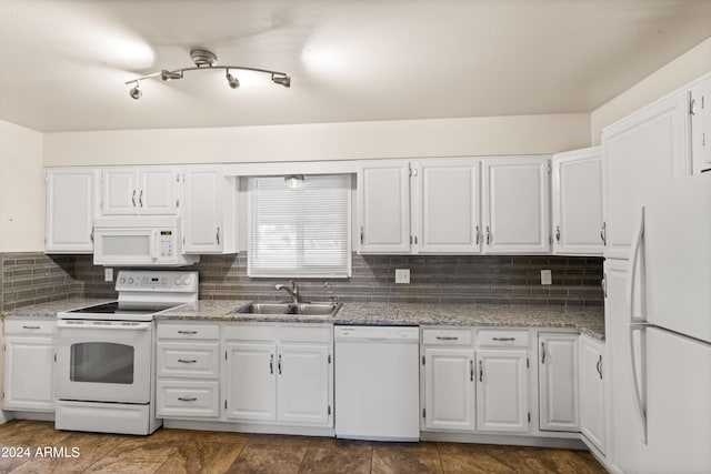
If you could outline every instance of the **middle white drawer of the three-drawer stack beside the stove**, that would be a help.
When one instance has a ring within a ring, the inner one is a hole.
[[[220,376],[218,343],[159,342],[158,376],[217,379]]]

